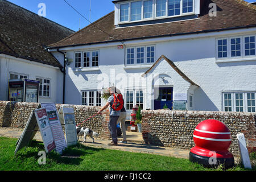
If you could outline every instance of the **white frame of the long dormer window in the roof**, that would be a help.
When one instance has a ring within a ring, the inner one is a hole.
[[[142,2],[142,10],[141,10],[141,20],[134,20],[131,21],[131,2],[137,2],[137,1],[141,1]],[[175,17],[179,17],[179,16],[187,16],[187,15],[195,15],[195,0],[193,0],[193,11],[192,12],[188,12],[188,13],[183,13],[183,0],[180,1],[180,14],[179,15],[168,15],[168,2],[169,0],[165,0],[166,1],[166,15],[164,16],[156,16],[156,0],[153,0],[152,3],[152,18],[144,18],[144,1],[148,1],[148,0],[137,0],[137,1],[127,1],[127,2],[123,2],[123,3],[118,3],[118,24],[125,24],[125,23],[133,23],[133,22],[142,22],[144,20],[154,20],[154,19],[163,19],[163,18],[175,18]],[[125,4],[129,4],[129,18],[127,21],[122,21],[121,22],[121,5],[125,5]]]

